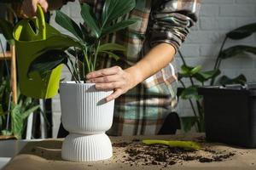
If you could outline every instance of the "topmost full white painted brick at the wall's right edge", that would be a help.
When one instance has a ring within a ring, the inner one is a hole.
[[[219,15],[220,16],[253,16],[255,12],[254,5],[220,5]]]

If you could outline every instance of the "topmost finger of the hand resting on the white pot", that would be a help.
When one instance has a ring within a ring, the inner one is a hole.
[[[90,80],[90,79],[96,78],[96,77],[104,77],[104,76],[108,76],[108,75],[115,75],[115,74],[118,74],[120,71],[122,71],[122,69],[119,66],[113,66],[113,67],[108,68],[108,69],[102,69],[102,70],[99,70],[99,71],[90,72],[88,75],[86,75],[86,78],[88,80]]]

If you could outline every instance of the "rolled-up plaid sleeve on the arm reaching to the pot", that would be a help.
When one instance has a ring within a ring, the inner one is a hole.
[[[200,6],[199,0],[157,0],[149,21],[150,45],[170,43],[177,52],[195,25]]]

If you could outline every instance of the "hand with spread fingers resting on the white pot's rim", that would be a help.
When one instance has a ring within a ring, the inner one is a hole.
[[[86,75],[86,79],[86,82],[96,83],[97,90],[113,90],[113,94],[106,98],[107,102],[117,99],[121,94],[125,94],[137,85],[131,71],[123,70],[119,66],[92,71]]]

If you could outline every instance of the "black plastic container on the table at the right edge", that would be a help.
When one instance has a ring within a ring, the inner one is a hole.
[[[256,148],[256,83],[200,88],[208,141]]]

